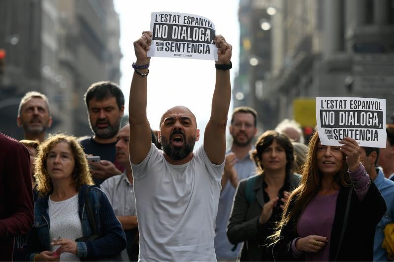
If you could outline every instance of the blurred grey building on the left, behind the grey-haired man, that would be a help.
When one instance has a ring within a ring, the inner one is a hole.
[[[108,0],[3,0],[0,48],[6,50],[0,76],[1,132],[21,139],[16,126],[21,97],[48,96],[51,133],[90,134],[83,95],[94,82],[119,83],[119,17]]]

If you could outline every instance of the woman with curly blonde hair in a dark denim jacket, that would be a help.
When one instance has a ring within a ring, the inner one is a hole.
[[[29,260],[94,260],[116,256],[125,248],[125,234],[108,199],[99,188],[90,186],[88,162],[75,137],[59,134],[44,141],[38,148],[34,176],[39,198],[28,237]],[[87,200],[94,210],[99,237],[89,238],[94,229]]]

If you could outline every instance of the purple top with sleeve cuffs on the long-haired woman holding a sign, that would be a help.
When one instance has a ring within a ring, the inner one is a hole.
[[[369,175],[366,173],[364,166],[360,163],[357,170],[349,172],[349,176],[358,199],[362,201],[371,184]],[[299,218],[297,223],[297,233],[300,237],[321,235],[327,236],[328,238],[328,243],[319,252],[306,253],[305,261],[328,261],[331,229],[334,222],[338,193],[339,191],[332,195],[316,196],[305,207]],[[302,253],[296,249],[296,241],[300,237],[294,239],[292,243],[292,250],[296,257],[302,255]]]

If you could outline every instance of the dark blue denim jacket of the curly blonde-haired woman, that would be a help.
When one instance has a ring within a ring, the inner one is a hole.
[[[81,219],[83,236],[93,234],[85,208],[83,185],[78,193],[78,213]],[[50,220],[48,215],[48,198],[38,198],[34,206],[34,228],[28,236],[28,260],[33,261],[34,255],[50,250]],[[126,236],[119,220],[116,218],[111,204],[105,194],[97,187],[89,189],[90,204],[97,215],[97,227],[100,237],[87,242],[77,242],[77,256],[81,258],[111,257],[119,254],[126,247]]]

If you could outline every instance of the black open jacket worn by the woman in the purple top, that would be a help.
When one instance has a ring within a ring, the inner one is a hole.
[[[350,187],[339,189],[331,237],[328,239],[330,241],[329,261],[335,260],[338,250],[349,190]],[[293,206],[294,201],[289,203],[289,211],[292,210]],[[375,228],[385,212],[385,201],[373,182],[371,182],[361,202],[353,190],[349,217],[337,261],[373,261]],[[296,232],[296,223],[299,216],[299,213],[295,214],[289,223],[282,228],[280,240],[268,248],[272,261],[304,261],[303,256],[295,258],[292,251],[292,242],[299,237]]]

